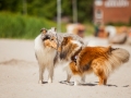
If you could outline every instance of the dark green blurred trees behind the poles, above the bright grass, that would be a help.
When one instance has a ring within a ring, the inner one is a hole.
[[[0,0],[0,11],[9,11],[23,14],[24,0]],[[78,20],[79,22],[92,21],[93,19],[93,1],[94,0],[76,0],[78,1]],[[26,0],[27,14],[38,17],[53,20],[57,17],[57,0]],[[72,0],[61,0],[62,16],[72,20]]]

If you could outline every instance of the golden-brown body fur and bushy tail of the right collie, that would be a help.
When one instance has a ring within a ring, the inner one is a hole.
[[[79,53],[76,63],[71,62],[70,68],[73,74],[76,74],[75,71],[78,71],[78,75],[81,76],[92,71],[98,76],[98,84],[106,85],[110,73],[122,63],[128,62],[129,58],[129,52],[121,48],[85,47]],[[73,65],[75,69],[72,69]]]

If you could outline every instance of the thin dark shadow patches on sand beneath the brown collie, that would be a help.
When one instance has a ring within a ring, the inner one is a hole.
[[[66,85],[70,85],[70,86],[73,86],[74,85],[74,82],[67,82],[67,81],[61,81],[59,82],[60,84],[66,84]],[[84,83],[84,84],[81,84],[80,86],[98,86],[98,82],[95,82],[95,83]],[[112,85],[112,84],[107,84],[105,85],[107,87],[118,87],[117,85]],[[122,87],[129,87],[130,85],[124,85]]]

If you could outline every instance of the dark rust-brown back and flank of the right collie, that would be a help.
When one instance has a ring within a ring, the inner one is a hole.
[[[80,71],[87,71],[95,59],[108,58],[110,49],[111,47],[85,47],[78,56],[76,65],[79,66]]]

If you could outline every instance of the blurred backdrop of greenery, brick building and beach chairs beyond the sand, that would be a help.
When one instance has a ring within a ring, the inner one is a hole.
[[[43,27],[123,44],[131,37],[131,0],[0,0],[1,38],[33,39]]]

